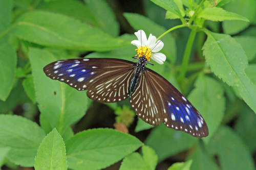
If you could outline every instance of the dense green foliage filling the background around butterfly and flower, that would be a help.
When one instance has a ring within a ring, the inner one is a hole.
[[[216,2],[0,0],[2,168],[255,169],[256,1]],[[187,96],[209,136],[136,121],[128,100],[92,102],[42,70],[67,58],[132,60],[140,29],[163,38],[167,60],[148,67]]]

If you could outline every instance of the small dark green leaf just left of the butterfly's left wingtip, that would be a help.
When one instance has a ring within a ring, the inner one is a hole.
[[[23,80],[22,85],[29,96],[29,99],[35,104],[35,88],[33,83],[33,77],[32,75],[28,75],[26,79]]]

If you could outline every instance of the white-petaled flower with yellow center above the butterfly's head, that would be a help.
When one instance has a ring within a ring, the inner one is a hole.
[[[157,41],[157,38],[152,34],[146,39],[146,34],[143,30],[139,30],[134,34],[138,38],[138,40],[132,41],[132,44],[138,47],[138,49],[136,49],[137,57],[145,56],[147,61],[150,61],[152,58],[157,63],[163,64],[163,61],[166,60],[166,56],[162,53],[157,53],[162,50],[163,42],[161,40]]]

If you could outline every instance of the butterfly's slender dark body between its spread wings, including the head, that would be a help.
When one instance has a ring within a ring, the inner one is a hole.
[[[138,85],[138,81],[140,79],[140,75],[146,69],[147,59],[145,58],[145,56],[140,57],[138,60],[139,61],[136,62],[136,64],[135,64],[136,71],[134,72],[134,76],[133,76],[133,79],[132,79],[131,84],[130,84],[130,91],[131,92],[133,92],[136,89],[136,87]]]

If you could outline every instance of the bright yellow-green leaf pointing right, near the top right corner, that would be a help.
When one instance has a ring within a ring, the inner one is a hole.
[[[213,21],[223,21],[223,20],[243,20],[249,22],[249,20],[236,13],[227,12],[222,8],[205,8],[198,17],[213,20]]]

